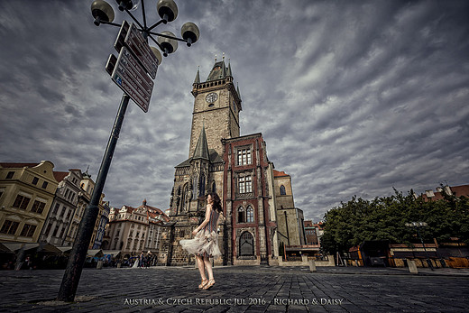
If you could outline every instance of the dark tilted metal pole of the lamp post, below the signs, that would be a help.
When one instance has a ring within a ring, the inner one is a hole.
[[[107,143],[103,161],[101,161],[99,173],[97,174],[95,189],[93,190],[89,205],[86,207],[83,218],[78,226],[77,238],[73,244],[73,248],[69,256],[69,262],[67,263],[67,268],[63,275],[62,283],[60,284],[59,295],[57,297],[60,301],[72,302],[75,299],[78,282],[83,270],[83,265],[87,258],[89,242],[91,241],[91,235],[93,235],[93,229],[95,228],[97,215],[99,213],[99,200],[103,193],[107,172],[109,171],[109,166],[113,159],[115,144],[117,143],[117,139],[119,139],[119,133],[121,132],[129,99],[130,97],[124,94],[119,110],[117,111],[117,115],[115,116],[113,130],[109,137],[109,142]]]

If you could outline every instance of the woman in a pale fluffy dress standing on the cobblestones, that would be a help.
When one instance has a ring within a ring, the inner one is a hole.
[[[221,255],[218,248],[218,235],[216,233],[218,226],[218,217],[223,211],[221,201],[216,192],[207,195],[207,207],[205,219],[194,231],[193,239],[183,239],[179,241],[183,249],[189,253],[195,254],[198,263],[198,272],[202,282],[198,285],[198,289],[207,290],[215,285],[214,273],[210,257]],[[208,273],[208,280],[206,276]]]

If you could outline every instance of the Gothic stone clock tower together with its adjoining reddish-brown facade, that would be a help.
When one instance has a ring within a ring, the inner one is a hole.
[[[175,168],[170,196],[170,223],[161,236],[159,263],[184,265],[194,257],[179,240],[205,216],[201,200],[216,191],[224,208],[218,239],[222,256],[216,264],[272,264],[279,255],[273,163],[262,133],[240,135],[243,109],[231,65],[216,61],[205,81],[194,80],[194,107],[189,158]]]

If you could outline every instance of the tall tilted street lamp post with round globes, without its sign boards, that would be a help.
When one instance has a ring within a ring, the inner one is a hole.
[[[142,33],[144,41],[146,41],[146,44],[148,44],[148,38],[152,39],[152,41],[156,43],[158,48],[160,48],[160,50],[163,52],[164,57],[167,57],[168,54],[176,51],[176,49],[178,48],[178,41],[186,42],[186,44],[189,47],[191,46],[192,43],[198,41],[198,38],[199,38],[198,26],[195,23],[190,23],[190,22],[184,23],[184,25],[182,25],[182,28],[181,28],[182,39],[175,37],[175,35],[171,32],[161,32],[161,33],[152,32],[152,30],[156,26],[160,25],[161,23],[166,24],[168,22],[172,22],[178,16],[178,6],[174,3],[173,0],[159,0],[158,1],[156,6],[157,6],[158,14],[161,17],[161,20],[157,23],[152,24],[151,26],[147,25],[144,0],[116,0],[116,3],[118,5],[119,10],[125,11],[127,14],[129,14],[131,18],[133,19],[134,23],[138,25],[137,29],[139,32]],[[140,23],[131,13],[131,11],[135,10],[139,5],[142,7],[143,23]],[[104,0],[96,0],[92,3],[91,14],[93,14],[93,17],[95,18],[94,23],[97,26],[99,26],[100,24],[109,24],[109,25],[121,27],[121,24],[113,23],[114,17],[115,17],[114,10],[112,6],[106,3],[106,1]],[[124,24],[122,27],[124,27]],[[157,39],[155,39],[153,36],[158,36],[158,37]],[[149,48],[151,49],[151,52],[149,49],[147,49],[146,51],[148,51],[149,53],[153,53],[152,56],[149,56],[151,57],[151,59],[154,60],[154,58],[156,58],[156,60],[158,60],[156,64],[156,68],[157,68],[158,65],[161,64],[161,60],[162,60],[161,53],[154,47],[149,47]],[[121,47],[119,47],[119,50],[120,49]],[[142,58],[142,56],[140,57]],[[135,62],[139,62],[141,64],[141,65],[137,65],[137,67],[141,67],[139,69],[143,69],[145,67],[145,64],[142,64],[142,60],[139,61],[137,60],[137,58],[135,58],[134,60]],[[112,68],[114,68],[114,66],[111,66],[110,69],[108,69],[106,65],[106,70],[109,72],[109,74],[111,74],[110,71],[112,71]],[[149,73],[148,69],[147,69],[147,73]],[[155,69],[155,72],[153,73],[152,78],[154,78],[155,73],[156,73],[156,69]],[[152,76],[151,73],[149,74]],[[133,96],[134,96],[132,97],[133,100],[138,98],[137,97],[138,95],[137,96],[133,95]],[[150,96],[151,96],[151,92],[150,92]],[[115,145],[117,143],[117,139],[119,138],[119,133],[121,131],[121,127],[124,121],[125,111],[127,109],[130,99],[131,99],[131,95],[129,95],[127,92],[124,91],[121,104],[119,106],[117,115],[115,116],[115,124],[113,126],[111,135],[109,137],[109,141],[106,146],[106,152],[103,157],[103,160],[101,161],[101,166],[97,174],[97,183],[96,183],[95,189],[93,190],[93,193],[91,195],[89,205],[85,209],[80,225],[78,226],[77,237],[73,244],[73,248],[69,256],[69,262],[67,264],[67,268],[65,270],[62,282],[60,284],[59,295],[57,297],[58,300],[71,302],[75,299],[75,294],[78,289],[78,282],[81,276],[81,272],[83,270],[83,265],[87,258],[87,248],[91,241],[91,235],[93,234],[93,229],[94,229],[94,226],[97,220],[97,215],[99,212],[99,207],[98,207],[99,200],[101,198],[101,194],[105,186],[107,172],[109,171],[109,167],[111,165],[113,154],[115,152]],[[150,101],[150,97],[148,97],[148,101]],[[146,111],[144,110],[144,112]]]

